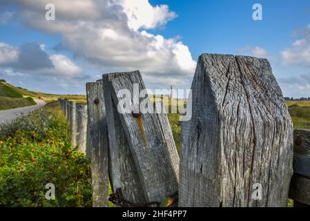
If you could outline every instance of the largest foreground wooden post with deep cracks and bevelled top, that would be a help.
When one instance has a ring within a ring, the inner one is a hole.
[[[287,206],[293,124],[267,59],[200,56],[182,123],[179,206]],[[262,200],[251,197],[262,185]]]

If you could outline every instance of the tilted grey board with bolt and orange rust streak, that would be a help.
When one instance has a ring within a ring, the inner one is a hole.
[[[117,106],[122,100],[133,111],[134,101],[133,96],[131,96],[133,84],[138,84],[139,91],[144,90],[142,77],[139,71],[116,75],[118,77],[111,77],[108,81],[113,102]],[[126,93],[124,98],[118,97],[117,93],[123,89],[128,89],[130,95]],[[144,98],[139,99],[139,104],[142,100]],[[148,98],[146,99],[146,106],[153,108],[153,104]],[[155,113],[142,113],[137,118],[133,117],[131,112],[117,113],[144,191],[144,198],[146,202],[161,202],[178,189],[177,171],[175,170],[177,165],[171,160],[177,157],[177,151],[168,148]],[[171,157],[171,155],[174,156]]]

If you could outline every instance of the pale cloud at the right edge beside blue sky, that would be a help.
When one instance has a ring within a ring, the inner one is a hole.
[[[285,65],[300,65],[310,67],[310,24],[301,39],[293,42],[291,48],[281,52],[282,63]]]

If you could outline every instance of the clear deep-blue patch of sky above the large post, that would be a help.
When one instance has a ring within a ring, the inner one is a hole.
[[[291,46],[294,31],[310,23],[310,1],[153,0],[151,3],[166,3],[177,12],[177,19],[156,32],[166,37],[181,35],[195,59],[202,52],[238,53],[238,48],[244,45],[278,53]],[[253,21],[254,3],[262,5],[263,21]]]

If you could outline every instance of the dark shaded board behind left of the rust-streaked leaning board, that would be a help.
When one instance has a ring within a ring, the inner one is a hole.
[[[104,101],[108,125],[110,183],[113,191],[116,191],[117,188],[122,189],[122,195],[126,200],[137,204],[145,204],[146,199],[144,198],[142,185],[117,114],[116,105],[111,96],[110,79],[119,75],[122,75],[122,73],[103,75]]]

